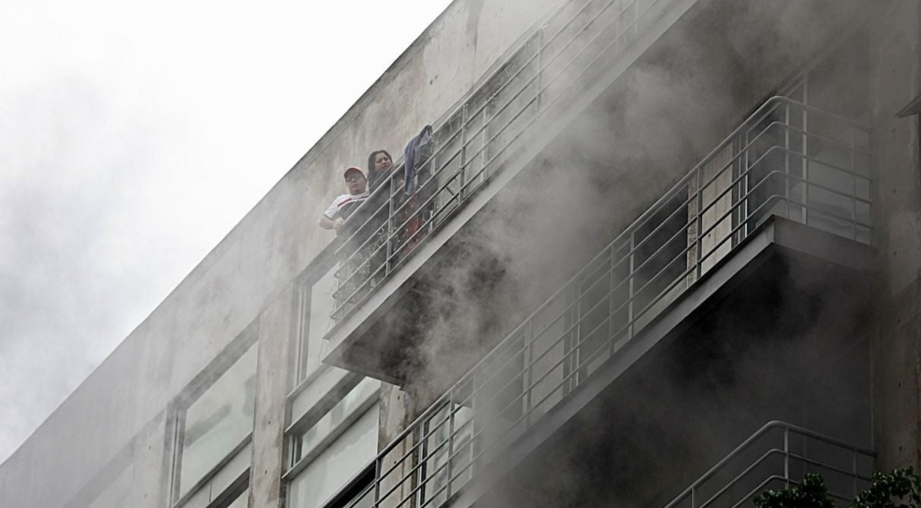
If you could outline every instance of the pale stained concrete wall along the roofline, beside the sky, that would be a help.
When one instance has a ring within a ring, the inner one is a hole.
[[[283,449],[285,422],[277,417],[288,387],[279,380],[289,378],[290,363],[276,362],[290,353],[286,327],[275,318],[290,318],[292,280],[332,240],[315,224],[342,191],[341,168],[364,166],[367,154],[380,147],[402,152],[557,1],[458,0],[449,6],[0,466],[0,506],[64,506],[81,490],[78,497],[87,498],[90,479],[105,487],[99,471],[120,453],[134,464],[132,505],[167,505],[168,405],[263,311],[253,495],[276,491],[275,480],[261,479],[270,476],[270,467],[273,477],[278,474]]]

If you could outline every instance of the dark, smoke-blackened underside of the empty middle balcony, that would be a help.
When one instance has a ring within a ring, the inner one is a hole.
[[[545,485],[568,492],[560,506],[664,505],[773,419],[867,445],[872,272],[869,247],[773,217],[503,445],[452,508],[535,505]],[[579,497],[600,484],[604,502]]]

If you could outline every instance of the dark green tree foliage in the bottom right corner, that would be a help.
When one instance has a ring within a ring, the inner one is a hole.
[[[757,508],[834,508],[825,480],[815,474],[788,489],[764,491],[752,501]],[[849,508],[921,508],[921,479],[914,468],[873,473],[869,489],[858,493]]]

